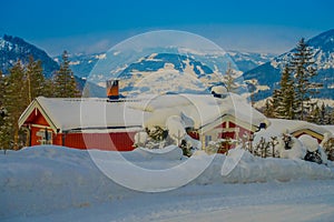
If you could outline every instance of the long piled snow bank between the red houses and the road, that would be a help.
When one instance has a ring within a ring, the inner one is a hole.
[[[227,157],[198,151],[185,158],[177,147],[131,152],[32,147],[0,154],[0,220],[86,208],[140,193],[106,176],[97,163],[106,163],[122,182],[146,191],[166,191],[189,182],[216,183],[224,190],[224,183],[334,179],[332,162],[328,168],[302,160],[261,159],[240,149],[230,150]]]

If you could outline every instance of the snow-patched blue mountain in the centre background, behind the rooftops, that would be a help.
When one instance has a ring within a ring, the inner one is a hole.
[[[87,77],[88,80],[104,85],[107,79],[120,79],[124,95],[143,92],[202,93],[212,85],[222,84],[222,74],[226,72],[228,63],[236,70],[237,78],[243,71],[269,61],[271,58],[273,54],[166,47],[147,48],[140,52],[111,50],[100,54],[80,54],[72,57],[71,68],[89,70],[94,62],[98,62]],[[76,74],[85,77],[84,73]]]

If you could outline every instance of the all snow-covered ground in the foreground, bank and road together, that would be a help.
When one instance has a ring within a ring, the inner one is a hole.
[[[0,221],[333,221],[333,179],[332,162],[240,149],[32,147],[0,153]]]

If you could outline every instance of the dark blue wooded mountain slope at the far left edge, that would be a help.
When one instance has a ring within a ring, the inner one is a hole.
[[[23,63],[28,62],[30,54],[35,60],[41,60],[46,77],[51,77],[59,69],[59,64],[43,50],[26,42],[23,39],[7,34],[0,38],[0,70],[3,73],[7,73],[8,69],[18,60]]]

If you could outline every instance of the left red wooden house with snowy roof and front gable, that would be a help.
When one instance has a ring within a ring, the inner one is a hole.
[[[125,101],[39,97],[22,113],[19,125],[29,130],[30,145],[129,151],[141,130],[141,115]]]

